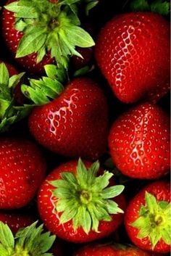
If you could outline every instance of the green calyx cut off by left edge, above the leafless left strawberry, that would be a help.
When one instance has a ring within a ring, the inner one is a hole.
[[[12,75],[9,77],[9,71],[4,62],[0,64],[0,132],[7,131],[10,125],[16,123],[30,111],[30,106],[21,109],[17,106],[14,97],[14,89],[20,83],[25,73]]]

